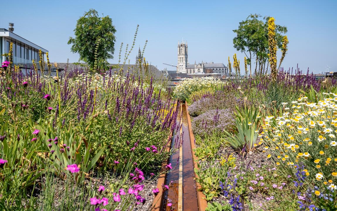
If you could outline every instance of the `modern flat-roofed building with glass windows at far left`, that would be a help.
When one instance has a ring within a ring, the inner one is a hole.
[[[39,55],[41,49],[43,57],[48,51],[40,46],[28,41],[13,33],[14,24],[9,23],[9,28],[0,28],[0,55],[9,52],[9,43],[13,43],[13,64],[21,68],[31,68],[33,66],[32,60],[36,61],[38,65]],[[0,56],[1,63],[6,60],[5,56]]]

